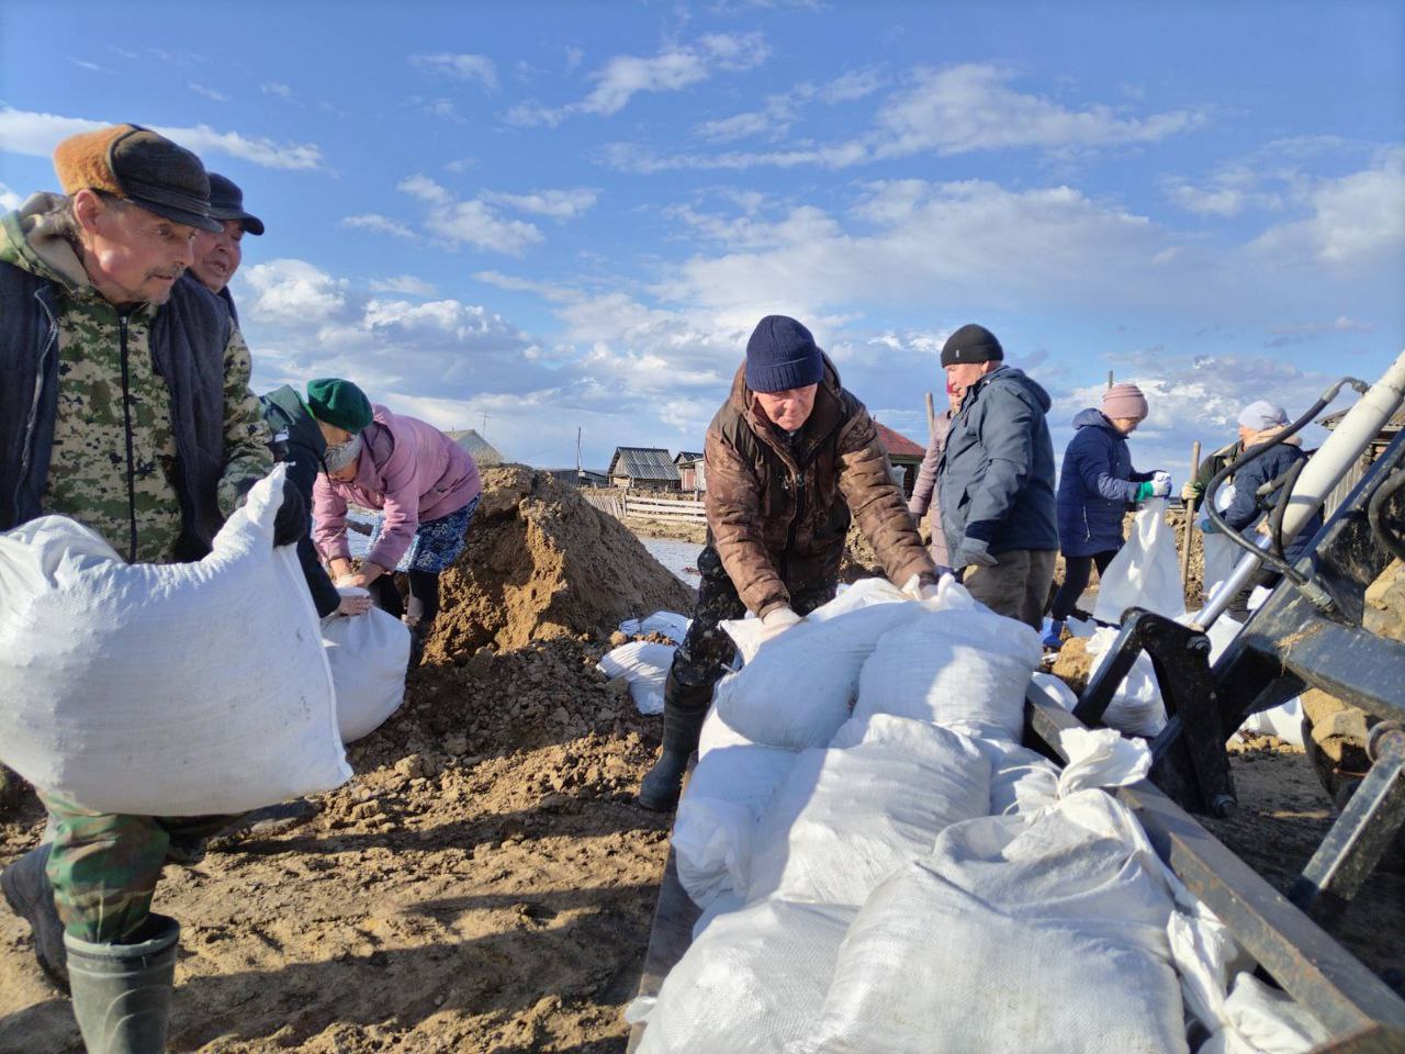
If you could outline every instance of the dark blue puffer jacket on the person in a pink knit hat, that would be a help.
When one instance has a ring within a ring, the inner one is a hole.
[[[1123,436],[1102,410],[1073,417],[1058,481],[1058,544],[1065,557],[1092,557],[1123,547],[1123,514],[1151,472],[1132,468]]]

